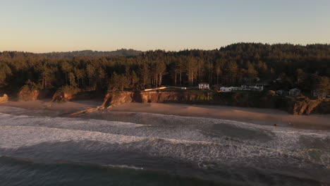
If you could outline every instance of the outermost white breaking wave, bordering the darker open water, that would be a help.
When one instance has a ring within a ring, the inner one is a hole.
[[[260,147],[257,144],[244,144],[231,140],[221,142],[173,140],[159,137],[136,137],[114,135],[104,132],[84,130],[63,130],[42,127],[0,127],[0,148],[16,150],[20,147],[32,147],[37,144],[56,142],[81,142],[80,146],[88,151],[140,151],[155,157],[171,157],[181,161],[198,163],[201,168],[212,167],[213,163],[247,163],[260,166],[265,161],[272,166],[300,164],[310,166],[329,166],[329,154],[326,149],[317,151],[315,159],[305,149],[287,149],[279,147]],[[101,142],[90,145],[89,142]],[[116,144],[111,145],[111,144]],[[36,149],[40,151],[41,149]],[[290,162],[286,162],[290,160]]]

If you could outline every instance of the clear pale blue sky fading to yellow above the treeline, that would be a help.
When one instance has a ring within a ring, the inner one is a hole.
[[[0,0],[0,51],[330,44],[329,0]]]

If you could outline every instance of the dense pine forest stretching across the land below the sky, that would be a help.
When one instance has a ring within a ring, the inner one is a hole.
[[[256,78],[259,77],[259,78]],[[243,85],[329,89],[330,45],[238,43],[215,50],[0,52],[1,89],[145,89],[161,85]]]

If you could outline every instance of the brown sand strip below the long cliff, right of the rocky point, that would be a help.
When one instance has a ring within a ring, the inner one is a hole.
[[[330,115],[293,116],[276,109],[241,108],[188,104],[122,104],[109,111],[161,113],[176,116],[195,116],[238,120],[260,125],[330,130]]]

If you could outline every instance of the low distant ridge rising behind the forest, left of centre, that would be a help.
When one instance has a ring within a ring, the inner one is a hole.
[[[142,51],[136,51],[133,49],[119,49],[116,51],[64,51],[64,52],[51,52],[44,53],[49,58],[73,58],[73,57],[102,57],[102,56],[116,56],[116,57],[127,57],[127,56],[138,56]]]

